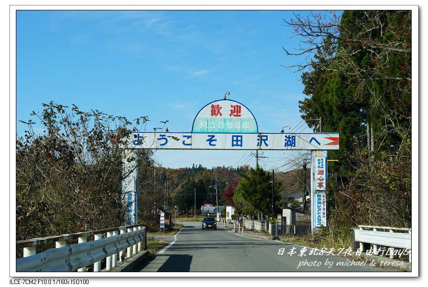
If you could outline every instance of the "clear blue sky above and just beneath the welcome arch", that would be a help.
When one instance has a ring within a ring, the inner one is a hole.
[[[293,11],[17,11],[17,120],[50,100],[130,120],[148,116],[147,130],[168,120],[190,131],[209,102],[248,107],[259,131],[311,132],[302,123],[301,58],[284,20]],[[299,12],[298,12],[299,13]],[[308,13],[300,12],[300,13]],[[34,120],[34,119],[33,119]],[[17,122],[17,133],[25,125]],[[264,152],[262,167],[284,165],[296,152]],[[245,151],[157,151],[166,167],[255,166]]]

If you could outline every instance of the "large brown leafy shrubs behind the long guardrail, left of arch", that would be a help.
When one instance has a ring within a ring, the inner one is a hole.
[[[131,122],[75,105],[43,107],[32,113],[37,122],[20,121],[28,128],[16,138],[16,240],[124,224],[122,150]]]

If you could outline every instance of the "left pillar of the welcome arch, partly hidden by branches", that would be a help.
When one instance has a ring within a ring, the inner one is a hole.
[[[122,203],[126,206],[126,224],[137,224],[137,151],[124,150],[123,151],[123,165],[122,165]]]

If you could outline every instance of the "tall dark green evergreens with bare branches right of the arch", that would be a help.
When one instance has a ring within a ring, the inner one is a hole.
[[[288,66],[303,72],[302,118],[340,134],[328,200],[329,222],[344,233],[411,226],[411,20],[407,10],[346,10],[285,21],[301,40],[286,54],[306,55]]]

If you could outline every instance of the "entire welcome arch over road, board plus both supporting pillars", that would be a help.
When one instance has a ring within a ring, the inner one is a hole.
[[[200,109],[189,132],[133,132],[126,150],[135,153],[135,149],[310,150],[312,228],[326,226],[327,151],[339,149],[338,133],[260,132],[253,113],[245,105],[223,99]],[[136,181],[125,178],[122,186],[126,195],[123,201],[136,202]],[[135,210],[128,217],[137,222],[136,205],[132,208]]]

